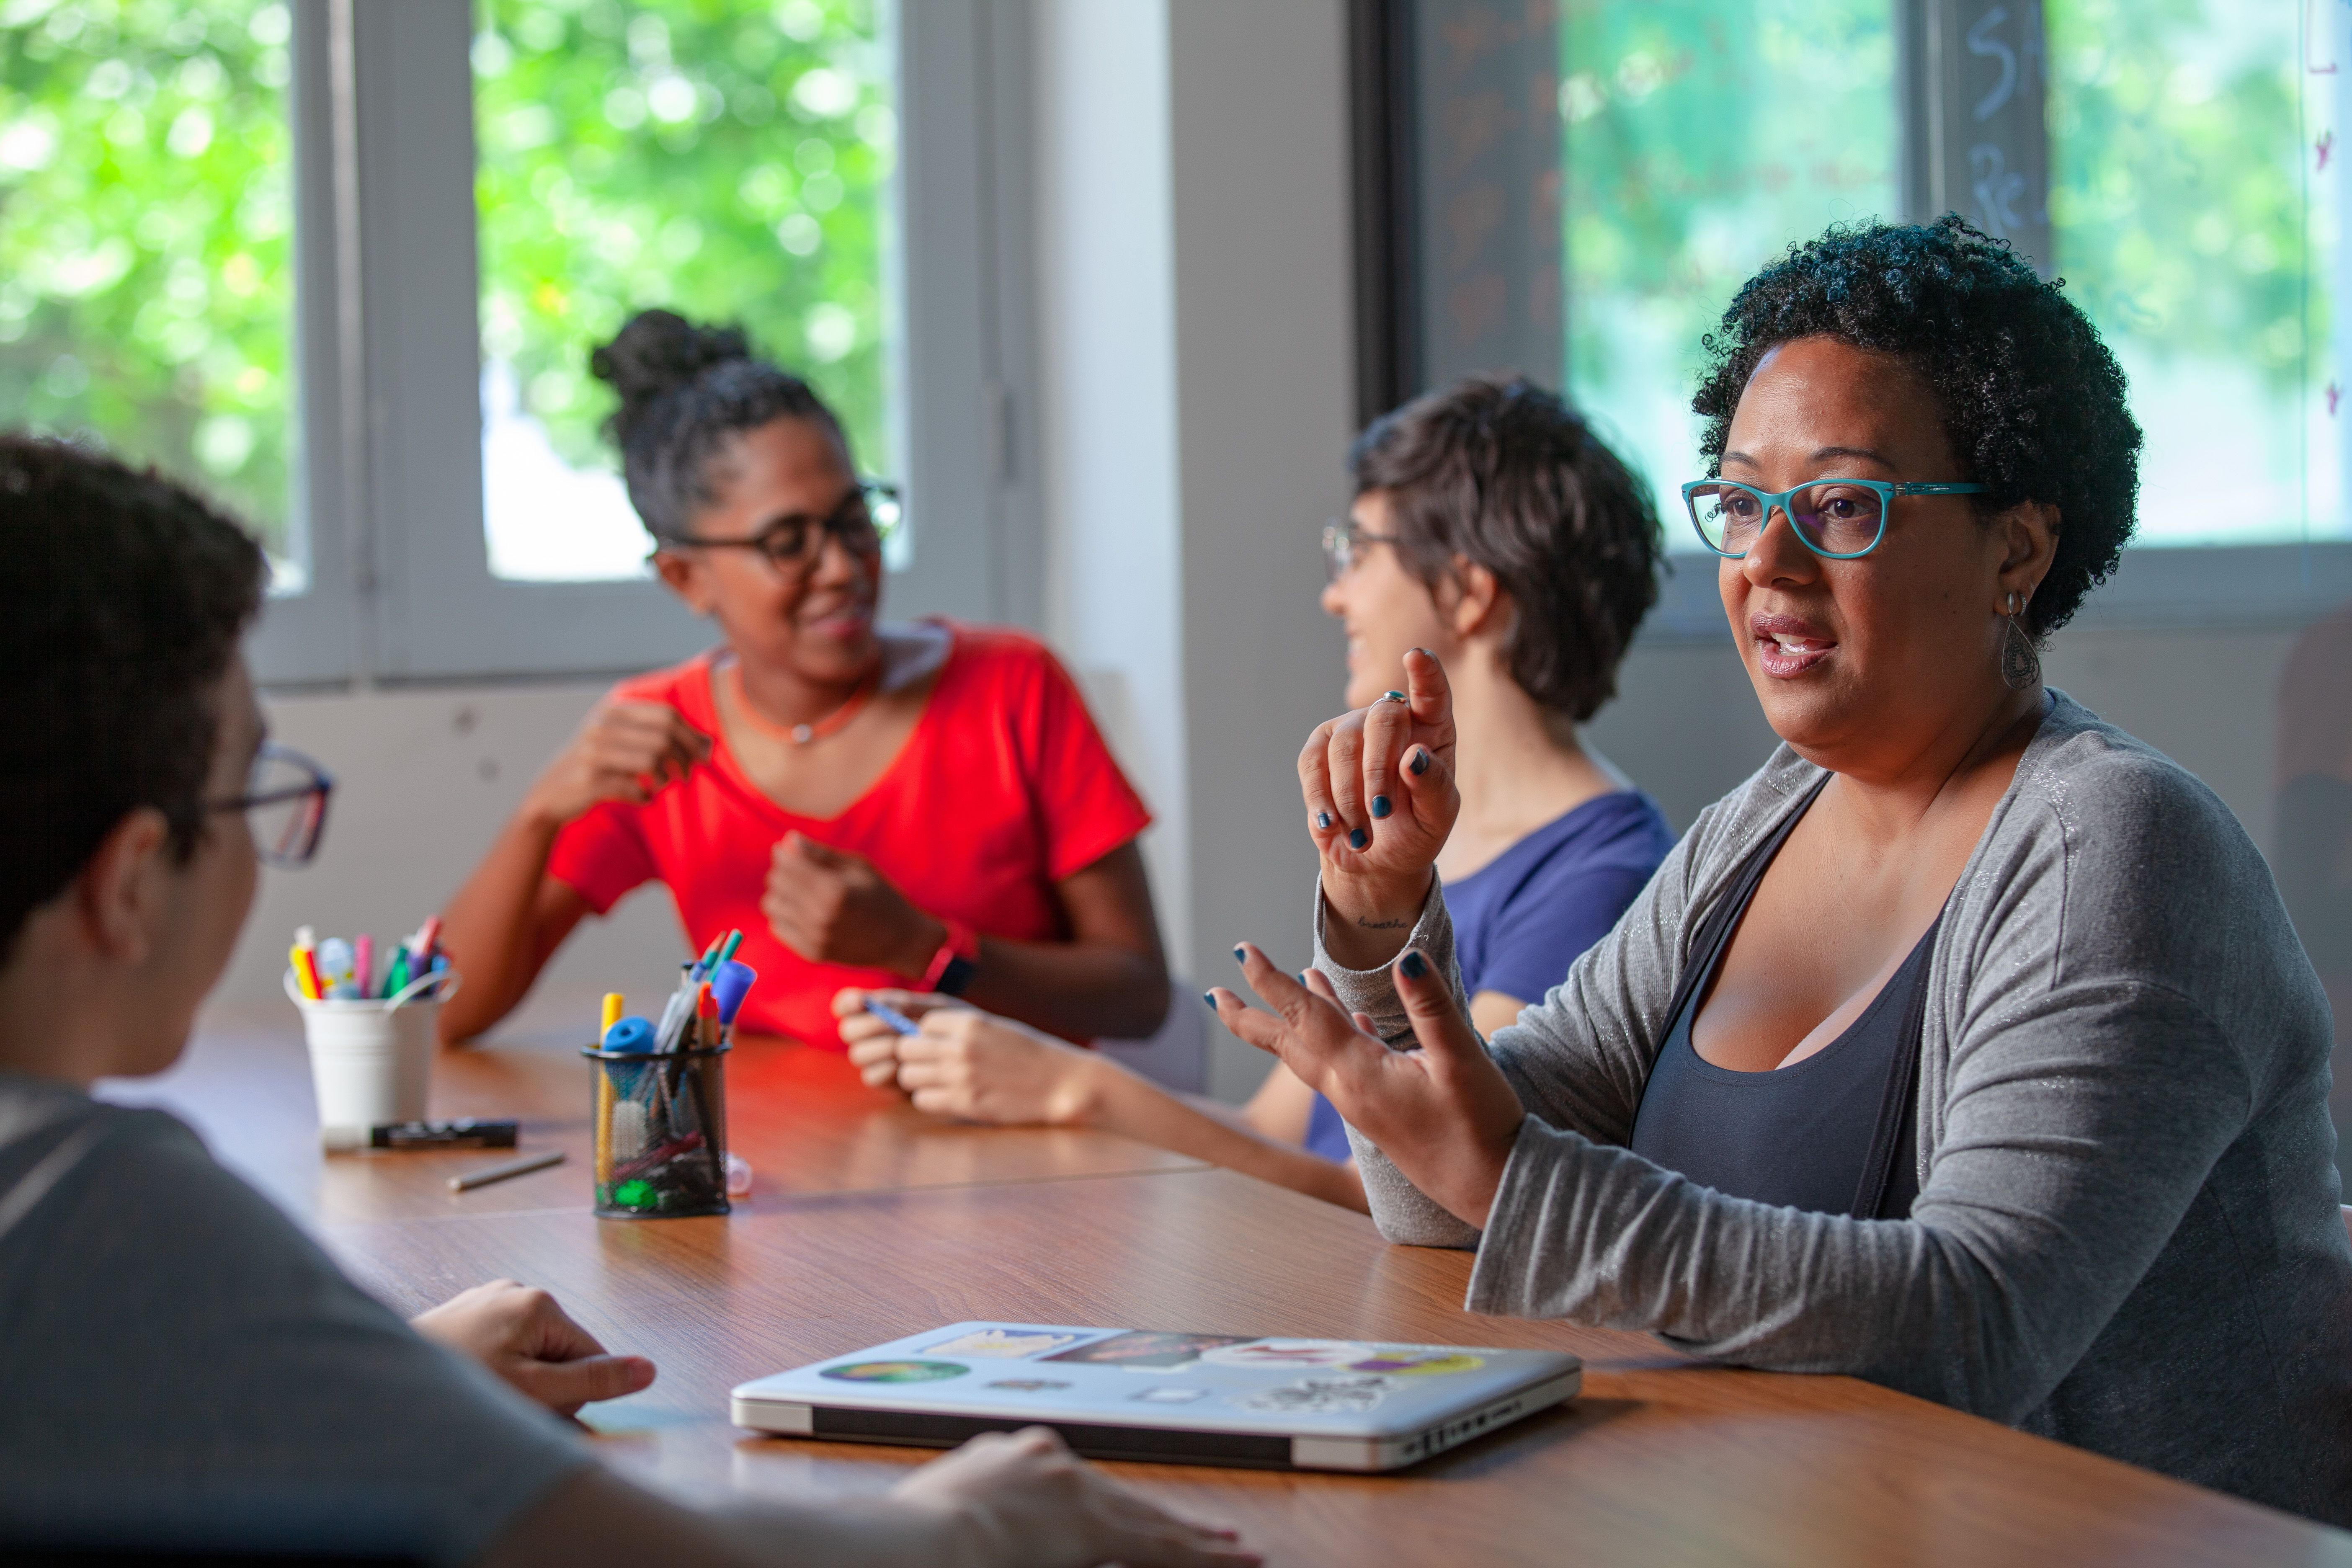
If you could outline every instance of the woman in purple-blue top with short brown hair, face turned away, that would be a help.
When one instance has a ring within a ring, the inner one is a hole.
[[[1672,849],[1658,806],[1578,724],[1658,597],[1649,489],[1562,400],[1470,378],[1376,421],[1350,454],[1355,505],[1324,529],[1322,607],[1348,628],[1348,705],[1432,651],[1454,684],[1461,818],[1437,870],[1472,1018],[1494,1032],[1566,976]],[[1371,802],[1381,816],[1381,802]],[[1242,1107],[1178,1095],[1117,1063],[946,997],[877,992],[898,1037],[842,992],[868,1084],[971,1121],[1096,1126],[1364,1208],[1338,1114],[1289,1067]]]

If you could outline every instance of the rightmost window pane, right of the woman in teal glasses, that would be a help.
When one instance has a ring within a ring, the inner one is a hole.
[[[2298,66],[2300,9],[2046,7],[2058,273],[2131,376],[2147,433],[2140,543],[2343,536],[2331,223],[2307,205],[2326,181],[2307,179],[2305,139],[2319,139],[2305,120],[2328,108],[2333,73]],[[2307,82],[2321,82],[2317,103],[2300,101]]]

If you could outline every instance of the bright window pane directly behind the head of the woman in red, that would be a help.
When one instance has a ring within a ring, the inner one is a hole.
[[[633,310],[741,322],[887,473],[882,0],[485,0],[473,45],[492,571],[640,576],[588,353]]]

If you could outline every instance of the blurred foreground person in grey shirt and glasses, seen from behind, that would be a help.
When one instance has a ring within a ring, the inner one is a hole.
[[[889,1497],[680,1507],[560,1420],[652,1363],[510,1281],[402,1324],[186,1124],[94,1100],[179,1058],[256,849],[318,844],[329,780],[266,743],[238,651],[263,576],[188,491],[0,437],[0,1554],[1254,1561],[1042,1429]]]

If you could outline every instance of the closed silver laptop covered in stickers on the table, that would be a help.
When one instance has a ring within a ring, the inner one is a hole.
[[[1101,1460],[1397,1469],[1573,1399],[1548,1349],[948,1324],[734,1392],[755,1432],[948,1448],[1044,1425]]]

